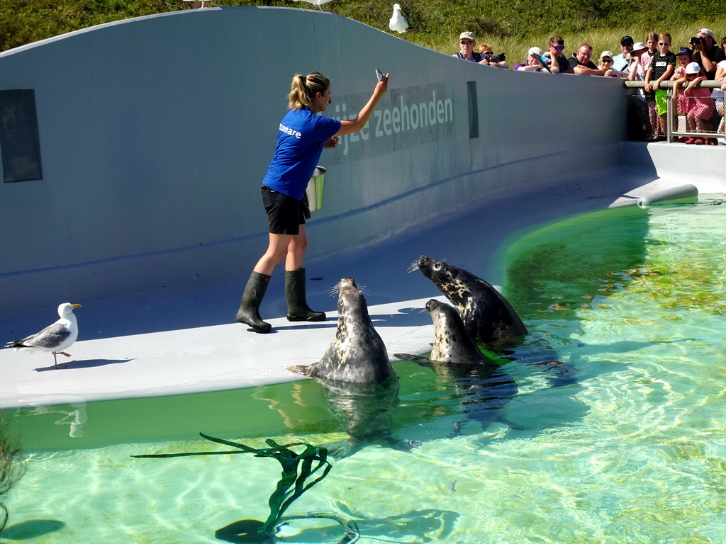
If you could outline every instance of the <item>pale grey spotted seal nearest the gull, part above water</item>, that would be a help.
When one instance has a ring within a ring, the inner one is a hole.
[[[287,370],[311,378],[340,382],[380,382],[395,376],[386,345],[373,328],[363,293],[353,278],[343,278],[338,290],[338,329],[325,355],[311,365],[290,366]]]

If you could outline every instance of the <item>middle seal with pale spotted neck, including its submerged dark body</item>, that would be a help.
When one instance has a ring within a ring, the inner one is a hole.
[[[426,302],[426,310],[433,321],[431,358],[407,353],[394,356],[412,360],[420,366],[431,366],[442,382],[452,384],[466,415],[466,419],[454,424],[452,435],[460,434],[466,421],[478,421],[484,431],[494,421],[519,428],[507,421],[501,411],[518,392],[515,381],[478,350],[452,306],[431,299]]]

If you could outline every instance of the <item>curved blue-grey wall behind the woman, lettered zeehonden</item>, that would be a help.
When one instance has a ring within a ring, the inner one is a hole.
[[[595,157],[620,160],[613,78],[475,65],[317,10],[101,25],[0,53],[0,90],[35,90],[44,173],[0,184],[0,311],[223,276],[243,284],[266,248],[258,187],[291,78],[330,77],[326,115],[340,118],[367,101],[375,67],[391,83],[369,128],[323,153],[309,260],[585,173],[603,164]]]

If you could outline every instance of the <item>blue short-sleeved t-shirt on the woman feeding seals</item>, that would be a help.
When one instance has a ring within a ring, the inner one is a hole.
[[[277,147],[263,185],[301,200],[325,141],[340,130],[340,121],[310,110],[290,110],[280,123]]]

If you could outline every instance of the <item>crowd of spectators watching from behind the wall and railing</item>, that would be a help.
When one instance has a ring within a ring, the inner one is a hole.
[[[462,32],[459,49],[453,57],[497,68],[509,68],[505,54],[494,54],[492,46],[476,46],[472,32]],[[631,36],[620,40],[620,51],[603,51],[593,60],[590,44],[581,44],[566,57],[565,41],[552,36],[547,49],[537,46],[527,51],[526,59],[513,66],[513,70],[542,73],[569,73],[602,75],[643,81],[635,99],[644,115],[648,139],[658,141],[666,137],[666,110],[668,96],[664,81],[673,82],[672,101],[676,115],[682,118],[683,127],[677,132],[690,133],[677,139],[685,144],[717,144],[715,138],[698,136],[698,133],[724,133],[724,91],[726,91],[726,37],[720,43],[709,28],[701,28],[685,46],[674,46],[672,36],[663,32],[649,33],[645,41],[635,42]],[[702,88],[702,81],[720,81],[720,88]],[[721,141],[726,144],[726,140]]]

